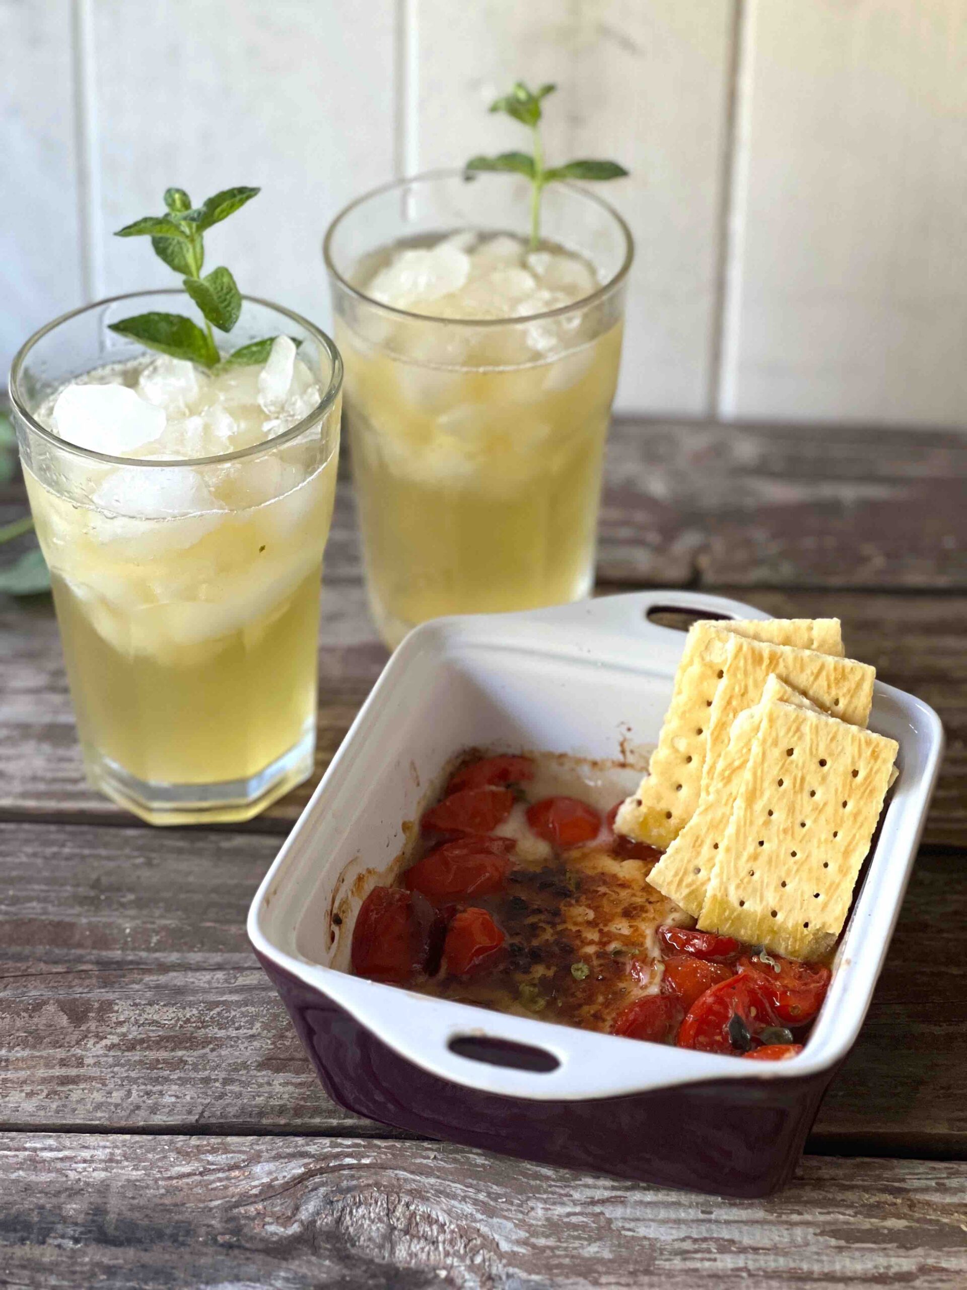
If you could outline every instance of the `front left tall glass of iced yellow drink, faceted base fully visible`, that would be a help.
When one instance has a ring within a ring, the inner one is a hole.
[[[21,350],[10,396],[88,777],[155,824],[246,819],[306,779],[342,361],[246,299],[206,370],[108,330],[103,301]]]

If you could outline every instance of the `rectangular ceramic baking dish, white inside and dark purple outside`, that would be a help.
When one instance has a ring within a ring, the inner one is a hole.
[[[591,1033],[348,973],[356,911],[396,876],[407,822],[460,748],[621,761],[654,744],[685,642],[650,620],[658,608],[767,617],[717,596],[649,591],[411,632],[266,875],[249,937],[326,1091],[348,1109],[529,1160],[762,1196],[792,1174],[883,965],[944,742],[919,699],[877,682],[870,728],[899,742],[899,778],[829,995],[793,1060]]]

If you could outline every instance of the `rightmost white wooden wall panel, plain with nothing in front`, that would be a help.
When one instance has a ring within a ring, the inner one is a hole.
[[[747,0],[722,408],[967,423],[967,4]]]

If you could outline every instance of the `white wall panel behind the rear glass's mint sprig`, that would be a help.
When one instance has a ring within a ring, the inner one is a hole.
[[[716,353],[732,0],[413,0],[407,169],[525,147],[486,112],[557,81],[552,160],[612,156],[602,184],[637,240],[619,406],[705,413]]]

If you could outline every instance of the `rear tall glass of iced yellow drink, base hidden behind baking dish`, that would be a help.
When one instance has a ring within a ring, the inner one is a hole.
[[[571,184],[419,175],[325,240],[366,580],[395,646],[440,614],[588,595],[633,246]]]

